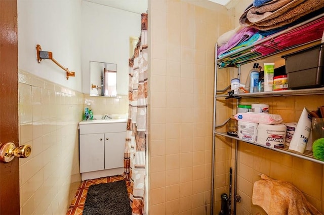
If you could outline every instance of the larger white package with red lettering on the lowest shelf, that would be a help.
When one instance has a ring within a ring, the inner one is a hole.
[[[259,124],[257,143],[273,148],[284,148],[286,141],[285,124]]]

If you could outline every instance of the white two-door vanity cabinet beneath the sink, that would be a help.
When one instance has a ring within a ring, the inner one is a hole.
[[[79,160],[82,180],[122,174],[125,140],[126,121],[80,122]]]

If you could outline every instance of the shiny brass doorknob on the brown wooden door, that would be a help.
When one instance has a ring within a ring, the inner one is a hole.
[[[14,143],[5,143],[0,148],[0,161],[8,163],[14,159],[14,157],[25,158],[29,157],[31,153],[30,145],[22,145],[16,148]]]

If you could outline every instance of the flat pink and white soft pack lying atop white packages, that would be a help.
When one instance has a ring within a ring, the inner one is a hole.
[[[238,121],[263,123],[263,124],[279,124],[282,122],[282,118],[278,114],[269,113],[237,113],[234,115]]]

